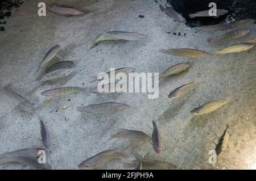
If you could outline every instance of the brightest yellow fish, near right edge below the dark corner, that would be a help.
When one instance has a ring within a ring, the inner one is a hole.
[[[226,47],[222,50],[218,50],[216,52],[212,52],[212,54],[228,54],[228,53],[239,53],[246,51],[248,49],[253,48],[253,44],[251,43],[241,43],[236,45],[231,45],[229,47]]]

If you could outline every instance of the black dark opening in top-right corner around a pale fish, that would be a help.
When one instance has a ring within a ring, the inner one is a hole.
[[[209,3],[215,2],[217,9],[228,10],[229,13],[220,18],[197,17],[189,18],[189,14],[197,11],[209,10]],[[167,0],[167,3],[187,20],[187,26],[199,27],[222,23],[225,20],[240,20],[253,18],[256,19],[256,1],[255,0]]]

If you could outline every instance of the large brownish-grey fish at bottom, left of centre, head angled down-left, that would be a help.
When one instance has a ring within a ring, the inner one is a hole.
[[[79,164],[79,168],[85,170],[97,169],[98,167],[102,167],[108,164],[109,162],[120,159],[121,157],[128,158],[130,157],[130,155],[130,150],[122,150],[120,148],[102,151],[101,153],[98,153],[93,157],[90,157],[85,161],[82,161]]]

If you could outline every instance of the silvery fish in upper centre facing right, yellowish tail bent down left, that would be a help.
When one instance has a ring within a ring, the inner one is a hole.
[[[101,41],[106,40],[141,40],[143,38],[147,37],[146,35],[143,35],[141,33],[135,33],[135,32],[125,32],[125,31],[108,31],[104,32],[96,37],[96,40],[94,41],[94,44],[92,45],[91,49],[95,47],[98,43]]]

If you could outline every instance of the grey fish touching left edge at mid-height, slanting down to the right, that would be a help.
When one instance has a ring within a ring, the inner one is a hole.
[[[0,91],[4,92],[7,96],[9,96],[10,99],[14,100],[14,102],[22,108],[22,110],[35,113],[36,112],[36,107],[26,98],[23,96],[15,93],[14,91],[11,91],[7,88],[4,88],[0,85]]]

